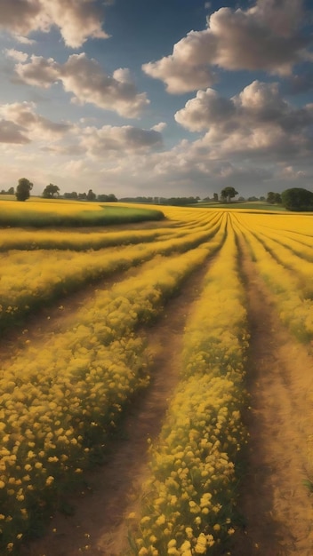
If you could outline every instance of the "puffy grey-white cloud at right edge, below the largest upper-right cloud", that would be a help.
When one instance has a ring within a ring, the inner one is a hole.
[[[232,99],[212,89],[198,91],[175,119],[190,131],[207,130],[194,148],[206,148],[211,158],[237,154],[279,160],[308,155],[313,146],[313,105],[293,108],[279,94],[277,83],[254,81]]]

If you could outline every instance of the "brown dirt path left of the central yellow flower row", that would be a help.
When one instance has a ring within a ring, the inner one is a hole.
[[[177,384],[184,325],[206,271],[204,267],[189,278],[148,330],[155,372],[148,391],[127,414],[124,440],[115,441],[109,463],[89,473],[88,488],[72,497],[74,515],[56,515],[47,535],[24,547],[21,556],[126,554],[129,544],[124,518],[140,504],[141,485],[148,478],[148,438],[157,438]]]

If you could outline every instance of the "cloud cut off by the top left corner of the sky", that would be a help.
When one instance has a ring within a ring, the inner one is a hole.
[[[77,48],[89,37],[106,38],[103,13],[95,0],[0,0],[0,28],[28,36],[36,30],[60,29],[65,44]]]

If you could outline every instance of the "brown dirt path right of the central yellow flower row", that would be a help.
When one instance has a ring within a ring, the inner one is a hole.
[[[313,481],[313,358],[278,321],[245,249],[242,270],[251,327],[251,439],[239,504],[246,528],[231,553],[312,556],[313,495],[303,481]]]

